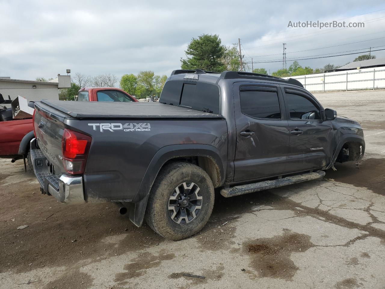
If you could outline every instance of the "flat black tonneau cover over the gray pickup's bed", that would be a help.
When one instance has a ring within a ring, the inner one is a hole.
[[[85,102],[47,99],[41,102],[73,118],[222,118],[219,114],[159,102]]]

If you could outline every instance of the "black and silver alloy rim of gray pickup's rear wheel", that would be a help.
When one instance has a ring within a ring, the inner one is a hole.
[[[195,183],[181,183],[171,193],[168,202],[170,218],[178,224],[186,224],[196,218],[202,208],[203,197]]]

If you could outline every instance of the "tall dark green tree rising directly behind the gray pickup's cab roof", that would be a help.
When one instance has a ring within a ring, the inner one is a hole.
[[[186,59],[181,58],[182,69],[204,69],[222,72],[226,69],[223,60],[225,47],[218,35],[202,34],[193,38],[187,46]]]

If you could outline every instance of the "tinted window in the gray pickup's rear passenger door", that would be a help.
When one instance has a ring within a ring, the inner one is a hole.
[[[252,118],[281,119],[276,91],[240,91],[241,111]]]

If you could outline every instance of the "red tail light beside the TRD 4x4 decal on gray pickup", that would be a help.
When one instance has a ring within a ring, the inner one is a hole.
[[[62,138],[63,166],[71,175],[84,173],[92,138],[76,131],[64,129]]]

